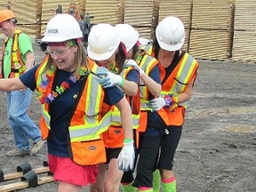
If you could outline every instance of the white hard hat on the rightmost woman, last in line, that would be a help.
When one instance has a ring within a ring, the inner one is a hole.
[[[164,18],[156,27],[156,39],[164,50],[180,50],[185,40],[185,28],[182,21],[172,16]]]

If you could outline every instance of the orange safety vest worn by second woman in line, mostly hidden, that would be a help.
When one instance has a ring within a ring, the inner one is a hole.
[[[120,76],[124,79],[128,73],[132,70],[132,67],[128,67],[122,70]],[[138,85],[139,86],[139,85]],[[126,100],[130,103],[132,109],[132,128],[136,130],[140,124],[140,92],[133,97],[125,95]],[[118,108],[115,106],[112,108],[111,126],[107,132],[103,133],[106,148],[123,148],[124,146],[124,129],[121,124],[121,114]],[[137,140],[138,134],[135,134]]]

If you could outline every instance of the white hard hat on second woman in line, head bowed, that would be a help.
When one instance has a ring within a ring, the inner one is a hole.
[[[92,60],[108,60],[120,44],[113,26],[100,23],[92,26],[88,36],[87,53]]]

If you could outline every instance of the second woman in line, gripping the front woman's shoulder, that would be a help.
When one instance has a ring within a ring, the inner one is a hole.
[[[135,61],[126,60],[127,52],[115,28],[106,23],[94,25],[88,36],[87,53],[90,59],[105,70],[100,74],[100,83],[104,87],[118,87],[124,92],[132,109],[131,128],[135,130],[140,120],[139,75],[135,68],[128,65]],[[120,110],[112,108],[111,126],[103,133],[108,161],[107,164],[98,165],[97,183],[91,185],[91,191],[118,192],[123,173],[134,167],[136,138],[134,141],[127,139],[120,117]],[[126,156],[126,163],[120,162],[118,156]]]

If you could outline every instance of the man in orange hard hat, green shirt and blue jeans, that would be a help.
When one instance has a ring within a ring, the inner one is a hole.
[[[7,36],[0,75],[4,79],[19,77],[35,62],[31,39],[17,29],[17,20],[11,10],[0,11],[0,30]],[[28,116],[31,98],[32,92],[28,88],[7,92],[7,116],[16,146],[7,152],[7,156],[34,156],[44,148],[41,132]],[[29,140],[33,140],[32,148]]]

